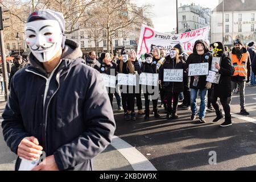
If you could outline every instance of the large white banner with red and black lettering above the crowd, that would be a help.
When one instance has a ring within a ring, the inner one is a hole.
[[[209,31],[210,26],[207,26],[182,34],[164,34],[142,24],[141,35],[138,42],[137,59],[143,61],[144,53],[152,51],[155,47],[159,49],[163,48],[166,50],[166,53],[170,53],[170,50],[176,44],[181,44],[185,52],[192,53],[196,40],[208,39]]]

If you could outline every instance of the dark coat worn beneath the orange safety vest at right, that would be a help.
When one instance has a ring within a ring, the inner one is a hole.
[[[246,66],[247,66],[247,77],[244,77],[244,76],[232,76],[231,77],[231,80],[232,81],[235,81],[235,82],[242,82],[242,81],[247,81],[249,82],[250,79],[251,79],[251,59],[250,59],[250,54],[249,52],[247,52],[246,48],[242,48],[243,49],[243,53],[246,53],[247,54],[247,62],[246,62]],[[230,53],[229,57],[231,59],[231,63],[233,64],[232,62],[232,55],[236,55],[236,48],[233,48],[232,49],[232,52]]]

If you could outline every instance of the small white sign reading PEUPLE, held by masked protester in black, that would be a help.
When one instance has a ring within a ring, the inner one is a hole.
[[[163,81],[183,82],[183,69],[164,69]]]

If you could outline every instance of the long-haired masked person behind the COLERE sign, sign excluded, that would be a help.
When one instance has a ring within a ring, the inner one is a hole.
[[[117,73],[123,74],[134,74],[134,65],[129,59],[129,52],[126,49],[122,49],[121,51],[122,60],[117,65]],[[136,120],[135,112],[134,112],[134,94],[129,93],[129,86],[121,85],[120,92],[122,96],[122,105],[123,111],[125,113],[125,120],[129,121],[130,119]],[[133,89],[132,89],[133,92]],[[131,113],[129,113],[130,111]],[[131,115],[130,115],[131,114]]]

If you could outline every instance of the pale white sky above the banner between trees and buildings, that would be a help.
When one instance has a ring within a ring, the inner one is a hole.
[[[152,5],[152,21],[155,30],[160,32],[172,32],[176,28],[176,0],[132,0],[138,6],[146,3]],[[178,5],[190,5],[195,3],[202,7],[214,9],[218,5],[218,0],[178,0]]]

